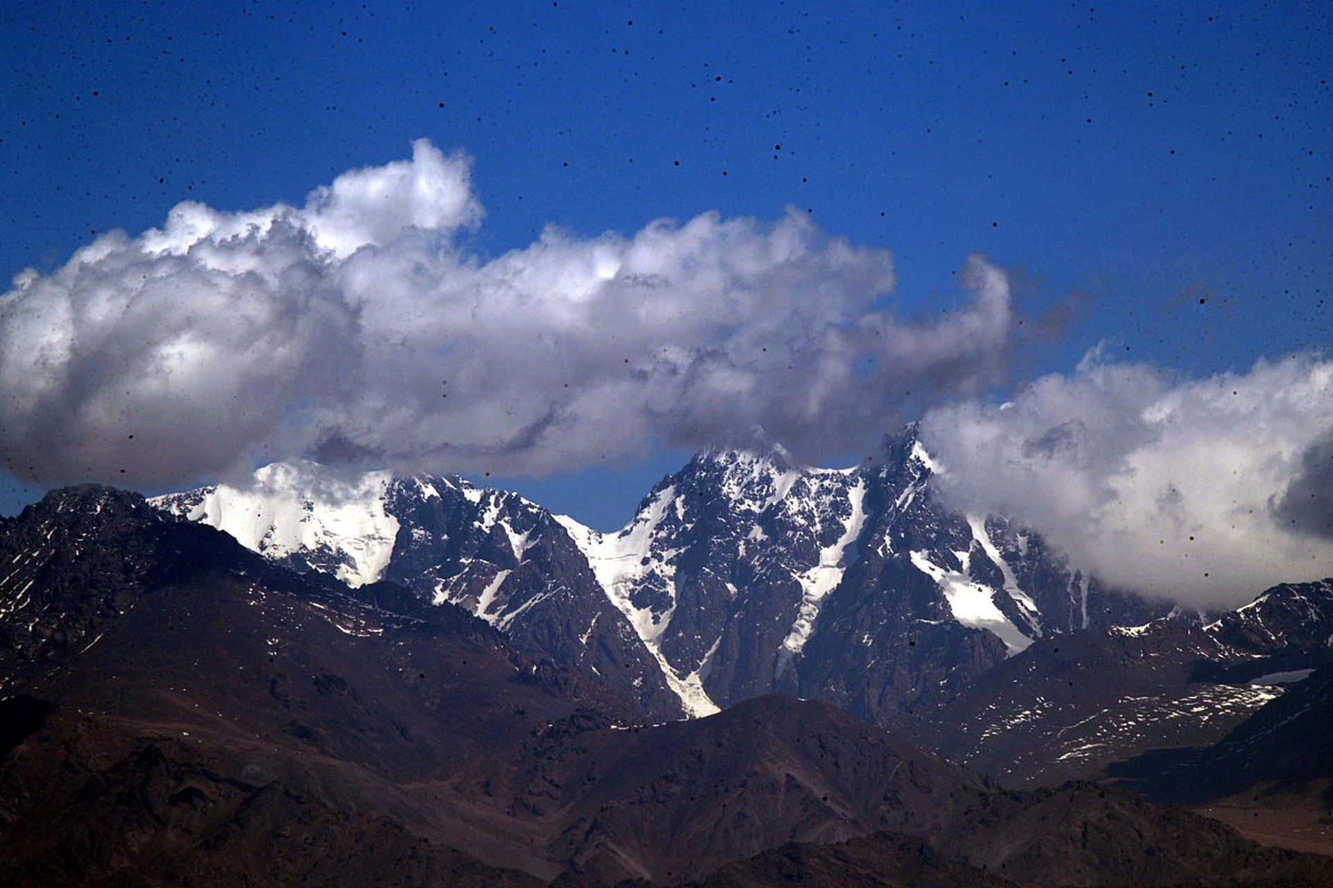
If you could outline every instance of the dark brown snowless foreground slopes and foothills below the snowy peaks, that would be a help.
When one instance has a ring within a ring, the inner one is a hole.
[[[1089,784],[1000,791],[824,703],[649,727],[448,600],[297,575],[131,494],[53,493],[0,551],[8,884],[681,884],[861,837],[794,853],[952,884],[1328,872]]]

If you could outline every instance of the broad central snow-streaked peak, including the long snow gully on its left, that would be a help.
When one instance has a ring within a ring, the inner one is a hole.
[[[619,534],[568,525],[704,712],[798,690],[794,660],[856,558],[864,497],[856,471],[705,453],[659,482]]]

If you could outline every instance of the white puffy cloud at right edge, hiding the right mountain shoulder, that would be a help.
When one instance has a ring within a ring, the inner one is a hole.
[[[1194,607],[1333,575],[1333,362],[1173,379],[1093,353],[921,423],[941,495],[1025,523],[1102,580]]]

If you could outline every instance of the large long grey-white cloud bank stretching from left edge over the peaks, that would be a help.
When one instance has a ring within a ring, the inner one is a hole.
[[[904,393],[977,391],[1013,342],[1005,276],[938,320],[889,253],[709,213],[551,228],[493,260],[464,154],[352,170],[304,206],[176,206],[0,297],[0,453],[43,482],[164,486],[268,459],[547,473],[676,446],[864,443]]]

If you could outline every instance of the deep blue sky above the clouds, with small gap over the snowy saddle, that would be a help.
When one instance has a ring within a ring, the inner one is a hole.
[[[790,204],[892,249],[908,310],[972,252],[1073,306],[1021,375],[1329,338],[1324,4],[387,5],[5,4],[0,272],[187,198],[300,204],[424,136],[476,158],[483,256]],[[609,527],[682,459],[501,482]],[[0,513],[37,493],[0,479]]]

